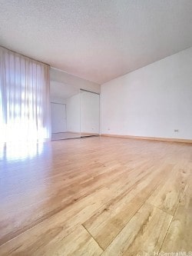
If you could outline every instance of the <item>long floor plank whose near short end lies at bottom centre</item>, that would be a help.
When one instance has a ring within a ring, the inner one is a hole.
[[[162,181],[162,177],[167,171],[170,171],[171,166],[163,167],[164,172],[157,175],[157,170],[149,170],[150,175],[136,180],[123,197],[118,198],[118,201],[112,201],[105,208],[99,209],[88,221],[83,225],[94,237],[101,248],[106,249],[111,241],[118,235],[122,228],[134,216],[144,201],[150,196],[154,189]],[[155,176],[155,177],[154,177]],[[132,179],[132,177],[130,177]]]

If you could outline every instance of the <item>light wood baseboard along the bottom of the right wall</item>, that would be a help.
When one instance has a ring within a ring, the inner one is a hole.
[[[115,138],[135,138],[141,140],[150,140],[150,141],[172,141],[172,142],[183,142],[183,143],[192,143],[192,140],[186,138],[158,138],[158,137],[143,137],[143,136],[132,136],[132,135],[108,135],[101,134],[104,137],[115,137]]]

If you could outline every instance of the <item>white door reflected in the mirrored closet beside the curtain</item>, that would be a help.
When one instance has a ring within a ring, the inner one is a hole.
[[[66,131],[66,105],[51,102],[51,131],[52,133]]]

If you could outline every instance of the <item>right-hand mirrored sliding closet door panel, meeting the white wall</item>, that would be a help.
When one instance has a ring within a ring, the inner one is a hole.
[[[100,133],[100,95],[81,90],[81,137]]]

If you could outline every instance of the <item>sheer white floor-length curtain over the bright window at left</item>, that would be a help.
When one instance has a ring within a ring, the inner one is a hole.
[[[50,137],[49,66],[0,47],[0,141]]]

